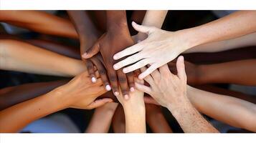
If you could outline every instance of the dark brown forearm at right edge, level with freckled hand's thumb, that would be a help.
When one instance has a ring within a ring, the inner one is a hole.
[[[229,83],[255,86],[256,60],[247,59],[199,66],[200,84]],[[217,72],[216,72],[217,71]]]

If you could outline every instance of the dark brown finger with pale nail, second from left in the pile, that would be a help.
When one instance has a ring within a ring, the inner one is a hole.
[[[100,74],[100,78],[103,80],[103,84],[105,86],[105,89],[107,91],[111,90],[110,84],[108,82],[108,77],[107,77],[107,72],[105,71],[105,67],[103,66],[103,64],[101,63],[100,60],[98,59],[93,59],[93,64],[95,64],[95,66],[97,66],[98,68],[98,72]]]

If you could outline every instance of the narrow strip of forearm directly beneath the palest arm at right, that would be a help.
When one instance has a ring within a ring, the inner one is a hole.
[[[228,39],[224,41],[215,41],[209,44],[202,44],[195,46],[184,53],[194,53],[194,52],[217,52],[226,51],[229,49],[237,49],[246,46],[256,46],[255,41],[256,33],[247,34],[245,36],[240,36],[234,39]]]

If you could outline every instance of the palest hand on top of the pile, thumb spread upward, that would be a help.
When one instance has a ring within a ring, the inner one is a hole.
[[[135,22],[132,24],[137,31],[148,34],[148,38],[115,54],[113,57],[115,60],[132,55],[115,64],[115,70],[132,64],[123,69],[124,73],[128,73],[150,64],[151,66],[138,77],[143,79],[188,48],[183,34],[179,31],[164,31],[153,26],[138,25]]]

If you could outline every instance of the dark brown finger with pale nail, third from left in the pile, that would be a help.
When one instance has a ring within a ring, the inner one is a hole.
[[[116,72],[112,66],[110,66],[110,68],[107,70],[108,70],[108,79],[110,82],[110,87],[112,88],[113,94],[115,96],[118,96],[119,90],[118,90],[118,78],[116,76]]]

